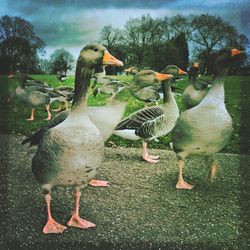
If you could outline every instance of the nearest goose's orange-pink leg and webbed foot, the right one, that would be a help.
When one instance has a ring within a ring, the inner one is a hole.
[[[78,227],[82,229],[87,229],[90,227],[96,227],[96,225],[92,222],[82,219],[79,216],[79,201],[80,201],[81,191],[76,189],[75,191],[75,209],[73,211],[72,217],[67,223],[68,226]]]

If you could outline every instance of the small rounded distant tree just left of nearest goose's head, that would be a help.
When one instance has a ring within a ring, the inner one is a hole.
[[[50,68],[52,73],[60,72],[67,75],[67,71],[72,69],[74,58],[72,54],[65,49],[57,49],[50,56]]]

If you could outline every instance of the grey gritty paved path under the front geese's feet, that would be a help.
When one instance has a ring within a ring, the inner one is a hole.
[[[83,191],[80,213],[97,227],[43,235],[46,208],[30,168],[33,152],[20,145],[22,139],[0,135],[0,243],[5,249],[221,249],[227,245],[225,238],[234,248],[234,242],[243,237],[241,211],[247,206],[243,199],[249,182],[241,168],[250,167],[250,157],[218,154],[221,171],[212,184],[205,181],[204,159],[190,159],[185,176],[197,186],[178,191],[173,152],[152,150],[161,161],[151,165],[140,160],[138,149],[126,148],[106,148],[97,177],[109,180],[111,186]],[[225,207],[227,211],[222,211]],[[52,213],[58,222],[66,224],[72,208],[71,190],[52,193]]]

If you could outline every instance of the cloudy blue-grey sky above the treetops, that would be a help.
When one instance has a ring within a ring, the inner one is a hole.
[[[129,18],[143,14],[156,18],[178,13],[221,16],[250,39],[249,0],[0,0],[0,16],[21,16],[32,23],[47,44],[46,57],[65,48],[76,58],[105,25],[122,28]]]

